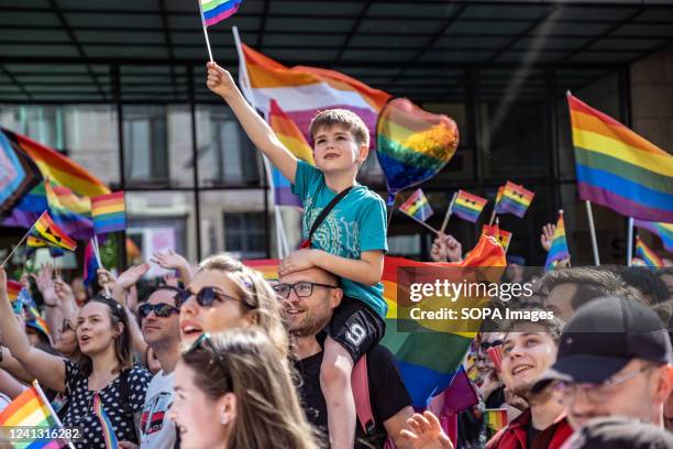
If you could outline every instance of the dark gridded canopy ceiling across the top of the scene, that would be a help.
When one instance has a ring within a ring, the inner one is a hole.
[[[244,0],[209,30],[235,75],[232,25],[283,64],[450,101],[472,67],[499,74],[486,89],[521,67],[562,68],[561,88],[582,86],[670,45],[673,2]],[[207,55],[197,0],[0,0],[0,101],[184,101],[191,87],[211,101]]]

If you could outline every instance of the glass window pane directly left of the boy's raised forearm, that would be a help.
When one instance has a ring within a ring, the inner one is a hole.
[[[196,110],[199,185],[260,186],[258,152],[227,106]]]

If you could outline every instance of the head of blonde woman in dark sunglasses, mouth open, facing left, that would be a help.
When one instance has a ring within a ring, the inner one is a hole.
[[[288,337],[280,304],[261,273],[227,254],[206,259],[180,299],[180,338],[190,344],[203,332],[258,326],[285,357]]]

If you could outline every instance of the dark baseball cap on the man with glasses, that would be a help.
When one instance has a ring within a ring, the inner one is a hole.
[[[556,363],[533,391],[551,380],[602,383],[633,359],[671,363],[671,340],[664,324],[635,299],[594,299],[580,307],[563,329]]]

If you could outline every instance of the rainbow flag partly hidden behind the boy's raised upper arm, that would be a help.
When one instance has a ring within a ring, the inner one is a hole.
[[[297,158],[316,165],[313,162],[313,149],[307,142],[297,123],[287,114],[276,100],[271,100],[269,111],[266,116],[271,129],[276,138],[290,151]],[[272,168],[272,179],[274,184],[274,198],[276,206],[298,206],[302,207],[301,199],[293,194],[290,182],[283,176],[276,167]]]

